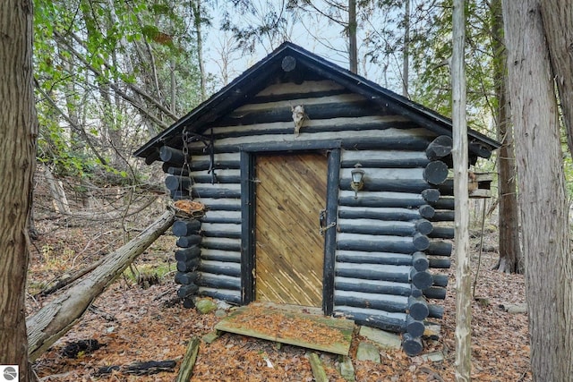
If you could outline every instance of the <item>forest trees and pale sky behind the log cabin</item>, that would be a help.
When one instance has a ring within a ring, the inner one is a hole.
[[[103,206],[117,216],[127,214],[130,202],[161,193],[160,170],[135,160],[133,150],[284,40],[343,66],[350,61],[364,77],[451,115],[451,16],[449,1],[37,0],[37,160],[56,210],[75,212],[58,180],[72,183],[82,212],[95,215],[102,206],[94,191],[110,185],[124,192],[123,206]],[[500,171],[491,206],[499,203],[504,219],[498,267],[520,272],[501,16],[500,1],[466,2],[468,126],[504,143],[499,157],[476,171]],[[346,60],[353,36],[356,55]],[[570,176],[567,135],[562,129],[562,164]],[[512,247],[504,250],[507,242]]]

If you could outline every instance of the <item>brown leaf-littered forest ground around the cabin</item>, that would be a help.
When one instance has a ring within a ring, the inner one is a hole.
[[[151,220],[147,218],[147,220]],[[133,225],[145,225],[138,217]],[[34,242],[30,262],[28,312],[38,310],[48,298],[32,295],[47,281],[99,259],[119,246],[121,231],[111,225],[81,225],[63,229],[54,219],[38,220],[42,233]],[[61,222],[60,222],[61,223]],[[54,229],[52,229],[54,228]],[[475,239],[477,240],[477,239]],[[487,233],[486,247],[494,245],[494,232]],[[222,310],[200,314],[184,309],[175,300],[173,282],[175,237],[166,235],[136,261],[136,267],[167,268],[160,283],[143,289],[129,277],[119,277],[94,301],[81,321],[64,335],[38,361],[34,369],[43,381],[173,381],[189,340],[210,333],[221,319]],[[98,250],[94,250],[98,249]],[[476,381],[531,381],[526,314],[509,314],[501,305],[525,302],[524,277],[492,271],[497,253],[483,253],[476,294],[473,301],[472,378]],[[473,247],[475,276],[477,248]],[[381,350],[381,363],[356,361],[360,341],[355,335],[350,349],[357,381],[453,381],[455,361],[455,265],[449,270],[448,297],[437,341],[424,342],[423,354],[441,352],[443,361],[427,361],[423,355],[408,357],[402,351]],[[32,290],[33,289],[33,290]],[[272,322],[261,325],[272,326]],[[75,358],[64,356],[66,344],[95,339],[99,348],[79,352]],[[243,335],[224,334],[212,344],[201,343],[192,381],[312,381],[312,370],[303,348],[283,345]],[[338,356],[319,352],[330,381],[343,381],[338,374]],[[98,369],[129,365],[136,361],[175,360],[172,372],[150,376],[130,376],[118,371],[99,376]]]

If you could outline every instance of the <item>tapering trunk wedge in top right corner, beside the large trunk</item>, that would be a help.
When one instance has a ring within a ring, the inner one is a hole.
[[[541,13],[569,152],[573,155],[573,5],[570,0],[542,0]]]

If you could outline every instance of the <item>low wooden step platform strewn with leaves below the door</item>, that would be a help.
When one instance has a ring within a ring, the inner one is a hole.
[[[348,355],[355,323],[350,319],[283,310],[263,303],[238,308],[215,329],[237,335]]]

